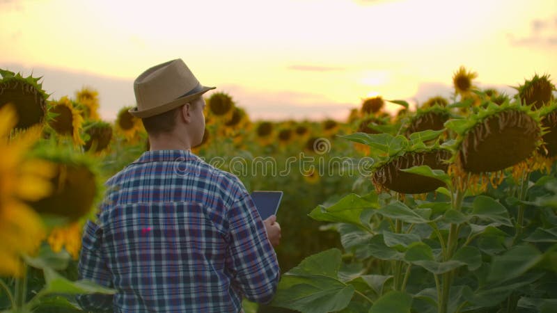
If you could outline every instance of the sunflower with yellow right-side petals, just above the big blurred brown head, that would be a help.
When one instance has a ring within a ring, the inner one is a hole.
[[[61,136],[72,136],[74,145],[84,145],[79,132],[83,124],[81,113],[74,108],[74,105],[68,97],[61,97],[56,102],[49,102],[49,113],[56,116],[49,120],[48,125]]]

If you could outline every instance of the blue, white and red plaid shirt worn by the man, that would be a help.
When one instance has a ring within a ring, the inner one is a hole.
[[[265,225],[240,179],[189,151],[145,152],[106,183],[84,228],[79,278],[116,289],[85,310],[240,312],[272,300],[280,276]]]

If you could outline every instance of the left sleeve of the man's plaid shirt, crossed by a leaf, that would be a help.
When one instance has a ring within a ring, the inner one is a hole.
[[[112,274],[102,255],[102,228],[88,220],[81,241],[81,254],[77,269],[79,279],[91,280],[104,287],[112,288]],[[84,294],[76,297],[84,310],[112,312],[113,296],[105,294]]]

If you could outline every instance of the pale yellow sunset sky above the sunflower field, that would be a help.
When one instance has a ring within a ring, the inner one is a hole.
[[[511,95],[556,83],[556,56],[557,0],[0,0],[0,68],[50,99],[94,88],[106,120],[175,58],[254,120],[342,120],[370,96],[448,97],[461,65]]]

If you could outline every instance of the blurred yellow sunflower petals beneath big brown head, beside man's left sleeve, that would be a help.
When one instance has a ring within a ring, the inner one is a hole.
[[[60,252],[64,248],[73,259],[79,258],[79,250],[81,250],[81,231],[84,223],[80,220],[64,227],[54,227],[50,232],[47,242],[52,251]]]

